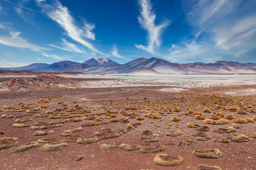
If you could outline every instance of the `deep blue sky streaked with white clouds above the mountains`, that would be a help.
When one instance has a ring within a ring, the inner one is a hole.
[[[0,1],[0,67],[91,57],[256,62],[256,1]]]

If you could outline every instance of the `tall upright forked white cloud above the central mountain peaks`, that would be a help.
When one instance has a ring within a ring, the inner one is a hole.
[[[164,28],[169,26],[170,22],[165,21],[158,26],[155,25],[156,14],[152,11],[149,0],[139,0],[139,5],[141,6],[141,16],[138,17],[138,20],[142,28],[148,33],[148,45],[135,45],[135,47],[156,54],[155,47],[161,45],[161,33]]]

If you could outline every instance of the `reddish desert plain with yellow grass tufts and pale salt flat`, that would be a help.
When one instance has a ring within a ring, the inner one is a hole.
[[[255,169],[255,75],[209,77],[1,74],[1,169]]]

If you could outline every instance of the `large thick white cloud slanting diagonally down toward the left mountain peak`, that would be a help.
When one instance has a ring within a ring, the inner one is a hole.
[[[43,11],[51,18],[53,21],[57,22],[58,25],[63,28],[67,35],[79,42],[82,45],[85,45],[88,49],[93,52],[102,54],[97,50],[93,45],[85,40],[85,38],[90,40],[95,40],[95,34],[92,33],[92,30],[95,28],[94,24],[85,23],[83,28],[76,26],[75,19],[70,15],[68,8],[60,4],[58,0],[55,1],[55,4],[42,4],[42,1],[38,1],[38,6],[43,8]]]

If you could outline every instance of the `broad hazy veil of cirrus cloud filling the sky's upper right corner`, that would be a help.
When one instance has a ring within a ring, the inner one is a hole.
[[[252,8],[256,8],[256,1],[199,0],[188,4],[188,21],[195,29],[205,30],[215,47],[233,57],[246,57],[255,51],[256,11]]]

